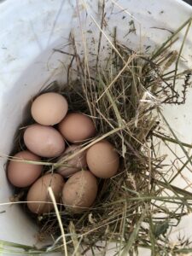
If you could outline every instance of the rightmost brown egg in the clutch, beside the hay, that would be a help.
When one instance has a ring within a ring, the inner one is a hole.
[[[113,177],[119,168],[119,155],[111,143],[102,140],[87,150],[87,165],[96,177]]]

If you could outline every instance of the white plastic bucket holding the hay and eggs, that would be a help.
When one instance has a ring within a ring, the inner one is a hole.
[[[90,23],[93,30],[93,33],[86,33],[89,42],[99,33],[92,19],[94,17],[98,21],[98,3],[97,1],[85,1],[89,14],[86,17],[81,14],[84,12],[84,1],[78,2],[81,21],[86,24],[83,27],[84,32],[88,30]],[[189,5],[178,0],[120,0],[113,6],[112,12],[113,1],[108,0],[106,3],[109,27],[117,26],[120,40],[129,44],[133,49],[139,49],[141,45],[147,47],[148,44],[152,46],[162,44],[170,33],[157,29],[157,27],[174,31],[192,15]],[[67,64],[67,55],[53,53],[53,49],[69,50],[65,46],[69,32],[73,28],[78,33],[80,28],[76,1],[6,0],[0,3],[0,13],[0,154],[9,154],[13,146],[15,129],[23,119],[26,102],[43,85],[55,79],[59,81],[66,79],[63,64]],[[130,29],[129,21],[133,19],[137,26],[137,34],[130,33],[124,37],[125,31],[128,32]],[[110,34],[108,29],[106,33]],[[79,47],[83,47],[80,32],[78,36]],[[141,42],[139,38],[142,39]],[[191,38],[192,32],[190,31],[187,46],[183,52],[188,61],[188,67],[192,65]],[[182,111],[183,108],[177,114],[179,119],[185,121]],[[166,113],[172,116],[169,109]],[[189,117],[187,124],[190,125],[190,131],[192,131],[190,110],[187,114]],[[181,125],[181,122],[178,124],[173,116],[172,124],[177,125],[178,132],[183,134],[183,140],[188,138],[188,143],[192,142],[191,132],[189,137],[184,137],[189,131],[186,130],[186,125]],[[13,194],[5,175],[5,162],[5,158],[0,159],[1,203],[8,202],[9,196]],[[1,205],[0,212],[3,212],[0,213],[0,240],[27,245],[36,244],[35,235],[38,228],[32,224],[20,207]],[[192,223],[192,218],[189,217],[189,219]],[[187,225],[183,228],[186,232],[190,231]]]

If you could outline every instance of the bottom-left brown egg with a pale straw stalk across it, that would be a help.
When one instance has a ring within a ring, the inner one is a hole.
[[[48,188],[51,187],[55,195],[55,201],[60,201],[62,188],[64,185],[63,178],[59,174],[46,174],[39,177],[38,180],[32,184],[27,194],[27,207],[31,212],[44,213],[53,210],[54,205],[49,198]]]

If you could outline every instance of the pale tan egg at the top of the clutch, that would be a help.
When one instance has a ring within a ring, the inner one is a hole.
[[[40,125],[55,125],[63,119],[68,110],[67,100],[61,94],[47,92],[32,102],[32,118]]]

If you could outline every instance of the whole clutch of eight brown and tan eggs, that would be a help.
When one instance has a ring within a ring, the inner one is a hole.
[[[54,208],[49,186],[57,203],[62,202],[71,212],[83,212],[96,200],[96,177],[113,177],[119,169],[119,154],[107,140],[82,149],[79,143],[94,137],[96,127],[84,113],[67,111],[67,100],[61,94],[37,96],[31,108],[36,123],[27,126],[23,136],[27,149],[15,154],[7,166],[10,183],[18,188],[29,187],[27,206],[36,214]],[[67,143],[72,144],[66,148]],[[42,158],[58,158],[54,173],[43,173]]]

